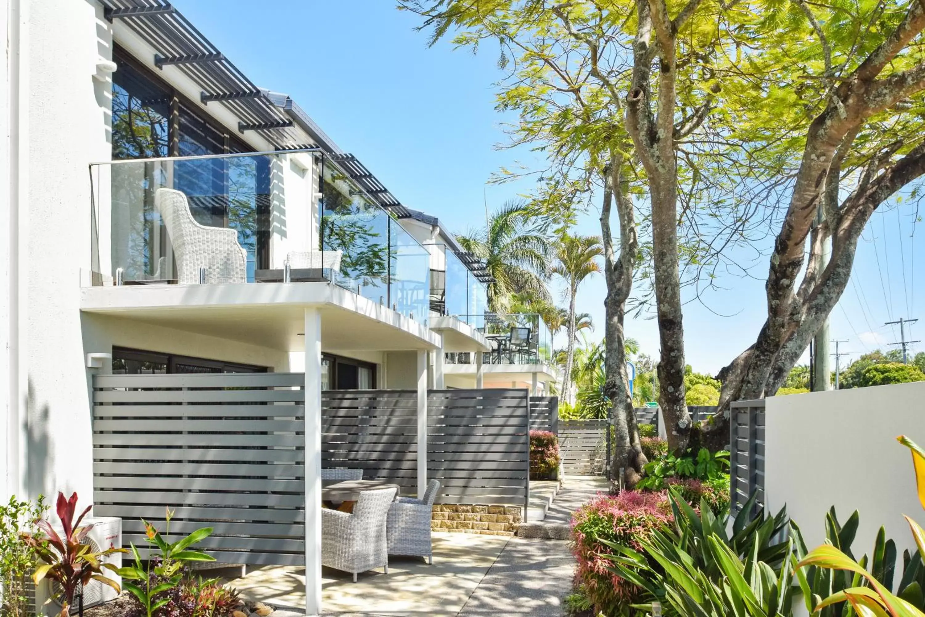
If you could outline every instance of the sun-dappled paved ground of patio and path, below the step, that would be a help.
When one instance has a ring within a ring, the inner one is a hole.
[[[562,614],[562,598],[573,578],[568,542],[519,537],[434,533],[434,565],[393,558],[388,575],[324,570],[325,615],[377,617],[404,615]],[[302,615],[304,569],[263,567],[230,582],[243,599],[262,601],[273,617]]]

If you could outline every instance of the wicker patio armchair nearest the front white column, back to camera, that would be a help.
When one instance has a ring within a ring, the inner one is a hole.
[[[364,490],[353,513],[322,509],[321,564],[356,575],[380,566],[388,574],[386,517],[398,488]]]

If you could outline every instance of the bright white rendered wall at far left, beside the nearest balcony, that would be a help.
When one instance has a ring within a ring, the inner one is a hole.
[[[29,449],[22,474],[33,496],[78,490],[87,500],[92,447],[79,283],[81,268],[90,266],[87,166],[110,153],[110,86],[93,74],[98,58],[111,57],[111,39],[103,9],[93,2],[21,2],[29,10],[22,110],[29,139],[20,157],[27,179],[19,200],[28,218],[28,228],[19,230],[28,255],[19,280]]]

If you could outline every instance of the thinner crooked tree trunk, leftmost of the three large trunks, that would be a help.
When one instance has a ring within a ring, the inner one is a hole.
[[[623,192],[621,171],[623,156],[611,154],[610,165],[604,172],[604,203],[600,209],[601,239],[604,245],[604,275],[607,281],[607,297],[604,300],[604,395],[611,400],[611,421],[613,423],[613,459],[611,470],[623,470],[626,487],[635,487],[642,477],[647,463],[639,443],[633,399],[626,375],[626,339],[623,334],[623,319],[626,300],[633,289],[633,268],[638,251],[633,201]],[[620,257],[613,249],[611,234],[611,202],[617,203],[620,220]]]

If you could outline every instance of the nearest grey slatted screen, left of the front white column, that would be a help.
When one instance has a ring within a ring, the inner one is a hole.
[[[304,375],[93,376],[93,501],[148,547],[214,527],[217,561],[304,562]]]

